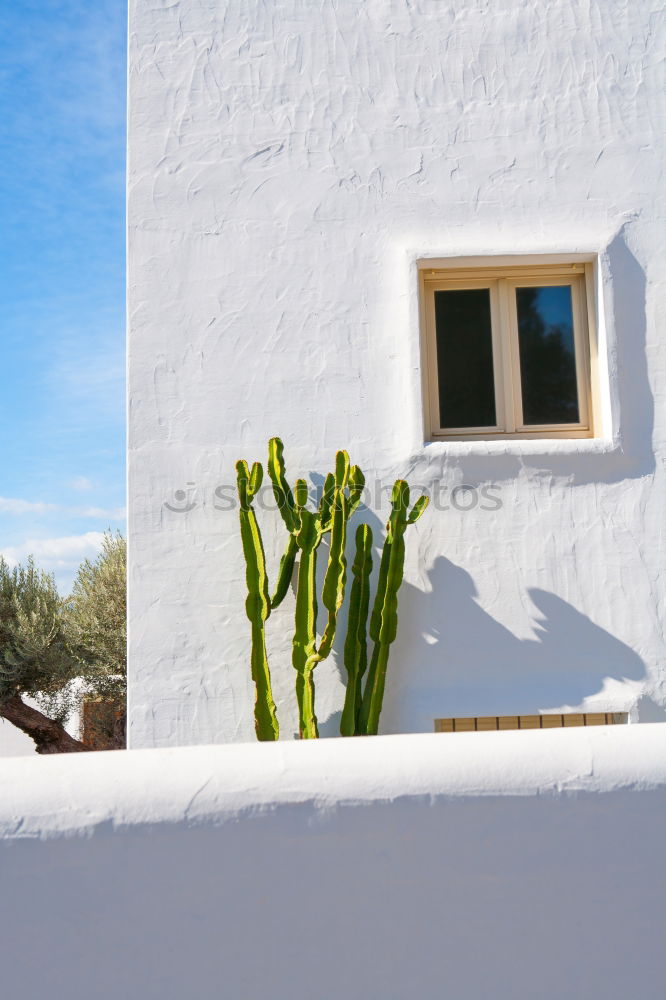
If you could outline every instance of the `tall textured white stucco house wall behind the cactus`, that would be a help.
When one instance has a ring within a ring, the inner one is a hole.
[[[131,745],[253,739],[215,490],[273,434],[292,478],[346,447],[372,482],[501,498],[411,530],[385,732],[664,717],[663,51],[650,0],[131,0]],[[424,445],[415,260],[555,252],[598,255],[606,437]],[[334,657],[325,734],[342,698]]]

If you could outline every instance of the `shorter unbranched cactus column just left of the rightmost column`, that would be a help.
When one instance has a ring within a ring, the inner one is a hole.
[[[345,639],[344,663],[347,690],[340,719],[340,734],[355,736],[361,707],[362,678],[368,665],[366,627],[370,607],[372,573],[372,529],[360,524],[356,529],[356,553],[352,564],[354,577],[349,599],[349,619]]]

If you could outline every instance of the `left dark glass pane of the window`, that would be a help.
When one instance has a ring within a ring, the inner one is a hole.
[[[494,427],[490,289],[435,292],[442,427]]]

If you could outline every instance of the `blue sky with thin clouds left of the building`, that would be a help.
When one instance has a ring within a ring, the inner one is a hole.
[[[124,0],[0,8],[0,552],[124,530]]]

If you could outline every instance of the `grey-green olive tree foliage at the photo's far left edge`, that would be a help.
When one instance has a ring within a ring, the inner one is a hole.
[[[79,673],[63,612],[53,576],[32,557],[14,568],[0,558],[0,701],[28,695],[58,722],[74,707]]]

